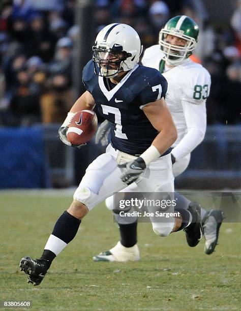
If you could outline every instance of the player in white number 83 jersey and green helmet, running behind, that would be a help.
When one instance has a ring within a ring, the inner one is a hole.
[[[177,139],[172,145],[171,159],[173,174],[178,176],[186,170],[191,152],[201,143],[206,131],[205,102],[210,90],[210,75],[201,65],[194,63],[192,55],[198,40],[198,25],[187,16],[171,18],[159,35],[159,45],[147,48],[142,64],[159,70],[168,81],[166,103],[177,129]],[[108,136],[108,121],[100,126],[96,142],[105,144]],[[138,192],[136,184],[123,192]],[[178,205],[185,207],[196,205],[184,196],[175,193]],[[106,199],[109,209],[114,208],[113,197]],[[93,257],[95,261],[138,260],[137,217],[131,221],[123,220],[114,213],[120,230],[120,241],[109,251]],[[219,229],[223,220],[220,210],[206,211],[201,208],[204,230],[205,254],[212,254],[218,242]],[[190,245],[189,241],[188,244]]]

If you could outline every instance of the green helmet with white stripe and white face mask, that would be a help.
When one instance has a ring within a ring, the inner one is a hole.
[[[185,15],[175,16],[169,19],[159,33],[160,48],[165,54],[167,65],[176,66],[192,55],[197,45],[199,28],[196,22]],[[173,45],[166,42],[168,35],[187,41],[185,46]]]

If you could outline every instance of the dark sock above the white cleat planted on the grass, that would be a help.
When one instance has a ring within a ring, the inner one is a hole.
[[[120,243],[125,247],[132,247],[137,243],[137,222],[132,224],[118,224]]]

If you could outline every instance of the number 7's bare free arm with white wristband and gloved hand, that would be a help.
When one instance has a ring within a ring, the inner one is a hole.
[[[146,104],[143,108],[146,117],[153,127],[159,131],[152,145],[136,160],[119,165],[123,169],[120,178],[131,184],[140,177],[146,166],[160,157],[176,140],[177,132],[164,98]]]

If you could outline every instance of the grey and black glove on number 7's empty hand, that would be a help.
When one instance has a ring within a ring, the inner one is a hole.
[[[126,184],[131,184],[132,182],[136,181],[141,174],[144,172],[146,165],[144,160],[139,157],[134,161],[119,164],[118,167],[122,169],[122,175],[120,179]]]

